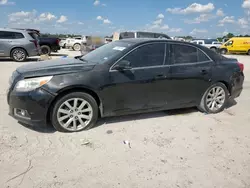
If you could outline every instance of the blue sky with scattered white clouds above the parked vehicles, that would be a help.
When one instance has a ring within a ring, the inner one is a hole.
[[[169,36],[250,34],[250,0],[0,0],[0,28],[105,36],[154,31]]]

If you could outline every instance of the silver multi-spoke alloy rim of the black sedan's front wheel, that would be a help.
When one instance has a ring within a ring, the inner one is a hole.
[[[68,131],[82,130],[93,117],[92,106],[84,99],[71,98],[61,104],[57,111],[59,124]]]

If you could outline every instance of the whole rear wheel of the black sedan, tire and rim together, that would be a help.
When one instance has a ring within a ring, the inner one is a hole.
[[[212,90],[215,89],[214,92],[216,93],[216,89],[218,89],[218,88],[219,88],[218,91],[221,94],[217,95],[217,97],[212,96],[211,95]],[[223,94],[224,94],[224,100],[219,100],[219,98],[222,99]],[[214,100],[216,100],[216,101],[214,101]],[[225,107],[228,103],[228,100],[229,100],[229,91],[228,91],[227,87],[225,86],[225,84],[218,82],[218,83],[210,86],[207,89],[207,91],[203,94],[200,105],[198,106],[198,109],[200,111],[208,113],[208,114],[216,114],[216,113],[222,112],[225,109]],[[211,101],[211,103],[210,103],[210,101]],[[216,104],[217,108],[214,108],[212,110],[211,108],[213,106],[215,107],[215,104],[213,104],[213,103]],[[218,103],[219,103],[219,105],[218,105]]]

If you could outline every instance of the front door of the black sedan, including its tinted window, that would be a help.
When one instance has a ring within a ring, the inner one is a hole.
[[[150,43],[137,47],[115,65],[126,60],[129,70],[110,69],[110,86],[105,92],[112,98],[104,100],[104,115],[134,113],[142,110],[163,108],[166,104],[169,66],[165,43]]]

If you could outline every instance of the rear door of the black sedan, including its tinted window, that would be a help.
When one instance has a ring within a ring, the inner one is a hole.
[[[199,48],[171,44],[171,101],[174,107],[189,107],[200,102],[211,84],[213,61]]]

